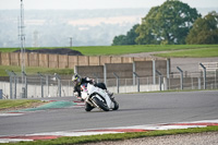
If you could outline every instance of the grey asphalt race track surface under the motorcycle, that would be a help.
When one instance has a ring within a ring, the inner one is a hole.
[[[0,136],[218,119],[218,90],[114,95],[120,109],[102,112],[71,106],[0,116]],[[75,100],[73,97],[47,98]]]

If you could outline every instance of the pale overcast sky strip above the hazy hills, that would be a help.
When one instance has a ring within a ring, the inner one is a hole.
[[[166,0],[23,0],[25,10],[32,9],[114,9],[152,8]],[[181,0],[192,8],[217,8],[218,0]],[[0,10],[20,9],[21,0],[0,0]]]

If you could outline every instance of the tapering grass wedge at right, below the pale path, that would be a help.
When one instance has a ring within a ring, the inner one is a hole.
[[[218,57],[218,48],[201,48],[191,50],[181,50],[168,53],[158,53],[158,57],[164,58],[210,58]]]

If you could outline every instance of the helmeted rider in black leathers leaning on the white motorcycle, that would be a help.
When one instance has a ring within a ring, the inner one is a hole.
[[[93,84],[94,86],[97,86],[101,89],[105,89],[106,93],[108,93],[108,95],[110,97],[112,97],[113,93],[110,93],[107,90],[107,87],[104,83],[96,83],[94,80],[90,80],[89,77],[81,77],[78,74],[74,74],[72,76],[72,81],[74,83],[74,96],[76,96],[78,99],[81,99],[81,84],[84,84],[84,83],[89,83],[89,84]]]

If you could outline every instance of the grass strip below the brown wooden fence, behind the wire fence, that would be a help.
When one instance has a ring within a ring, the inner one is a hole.
[[[21,67],[14,67],[14,65],[0,65],[0,76],[9,76],[5,72],[8,71],[14,71],[16,74],[21,73]],[[37,74],[37,72],[40,72],[43,74],[53,74],[58,73],[60,75],[72,75],[74,73],[73,69],[49,69],[49,68],[37,68],[37,67],[26,67],[27,74]]]

